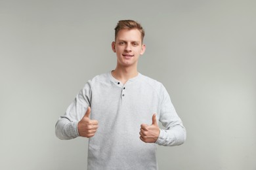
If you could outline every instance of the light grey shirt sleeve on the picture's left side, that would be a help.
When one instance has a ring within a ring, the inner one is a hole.
[[[74,139],[79,136],[77,124],[83,118],[90,101],[90,84],[85,84],[85,87],[77,94],[74,101],[70,104],[66,113],[58,118],[55,125],[55,134],[59,139]]]

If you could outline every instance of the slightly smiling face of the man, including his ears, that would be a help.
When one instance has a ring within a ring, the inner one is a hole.
[[[139,56],[146,50],[142,44],[138,29],[121,29],[117,33],[116,42],[112,42],[112,50],[116,52],[119,67],[137,66]]]

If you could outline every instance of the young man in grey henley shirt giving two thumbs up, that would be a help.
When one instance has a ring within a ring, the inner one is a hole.
[[[56,136],[89,138],[88,169],[158,169],[157,144],[182,144],[186,130],[163,85],[137,71],[146,50],[141,25],[121,20],[115,30],[116,69],[85,84],[58,119]]]

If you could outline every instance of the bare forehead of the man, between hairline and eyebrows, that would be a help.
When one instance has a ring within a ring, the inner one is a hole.
[[[141,41],[141,33],[138,29],[121,29],[117,33],[116,40]]]

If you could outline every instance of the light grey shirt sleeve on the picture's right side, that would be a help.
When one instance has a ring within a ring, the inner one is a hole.
[[[186,140],[186,129],[164,87],[162,88],[161,96],[163,96],[163,100],[160,105],[159,121],[165,129],[160,129],[160,135],[156,144],[163,146],[181,145]]]

